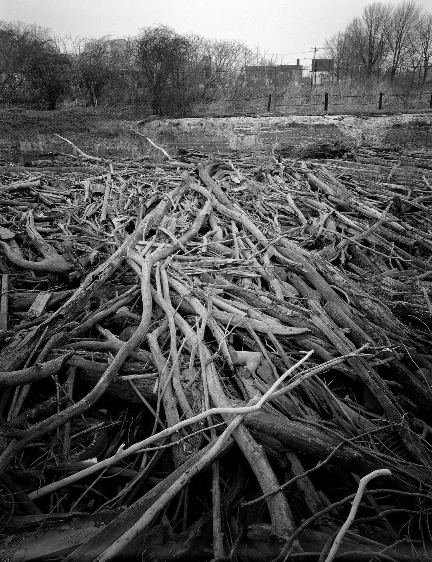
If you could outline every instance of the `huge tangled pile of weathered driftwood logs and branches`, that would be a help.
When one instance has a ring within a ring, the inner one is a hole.
[[[2,559],[432,557],[432,165],[336,148],[1,167]]]

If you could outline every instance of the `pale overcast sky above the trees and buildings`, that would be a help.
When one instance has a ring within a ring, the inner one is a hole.
[[[179,33],[241,39],[278,63],[307,65],[311,47],[343,30],[370,0],[0,0],[0,20],[24,21],[72,37],[121,38],[169,25]],[[398,0],[390,0],[397,4]],[[432,11],[432,0],[420,2]],[[317,58],[319,58],[319,51]],[[304,60],[305,59],[305,60]],[[310,64],[310,63],[309,63]]]

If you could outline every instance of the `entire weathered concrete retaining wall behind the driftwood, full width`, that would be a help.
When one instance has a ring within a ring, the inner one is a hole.
[[[270,151],[273,147],[284,149],[338,138],[355,147],[432,148],[432,113],[383,117],[206,117],[154,120],[141,125],[132,123],[132,126],[173,155],[177,148],[210,153]],[[61,134],[94,156],[109,158],[153,152],[143,137],[129,130],[114,138],[77,135],[73,131]],[[9,160],[18,155],[25,160],[47,152],[73,151],[52,135],[34,135],[26,140],[2,138],[0,124],[0,158]]]

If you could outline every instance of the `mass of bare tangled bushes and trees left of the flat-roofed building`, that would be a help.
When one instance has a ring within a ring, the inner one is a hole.
[[[206,97],[245,93],[237,69],[264,62],[258,49],[241,40],[183,35],[164,25],[113,40],[60,37],[35,25],[0,21],[0,101],[6,105],[30,102],[53,110],[70,99],[184,114]]]

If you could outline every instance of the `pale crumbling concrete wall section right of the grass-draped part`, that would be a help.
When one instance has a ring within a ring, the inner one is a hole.
[[[270,151],[337,138],[356,147],[432,148],[432,114],[168,119],[142,125],[140,132],[167,148],[214,152]]]

